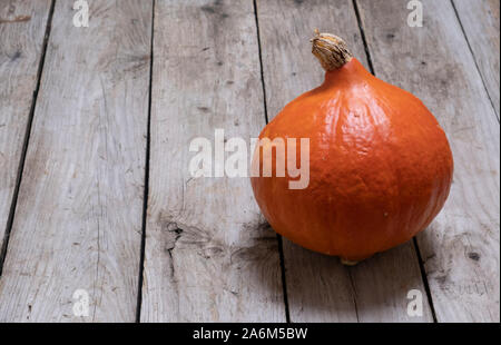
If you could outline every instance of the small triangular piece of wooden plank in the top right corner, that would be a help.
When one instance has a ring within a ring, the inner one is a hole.
[[[499,0],[453,0],[499,118]]]

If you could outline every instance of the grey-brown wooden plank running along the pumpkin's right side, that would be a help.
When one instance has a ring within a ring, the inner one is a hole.
[[[454,181],[419,236],[439,322],[499,322],[499,122],[449,1],[358,1],[376,75],[420,97],[448,134]]]

